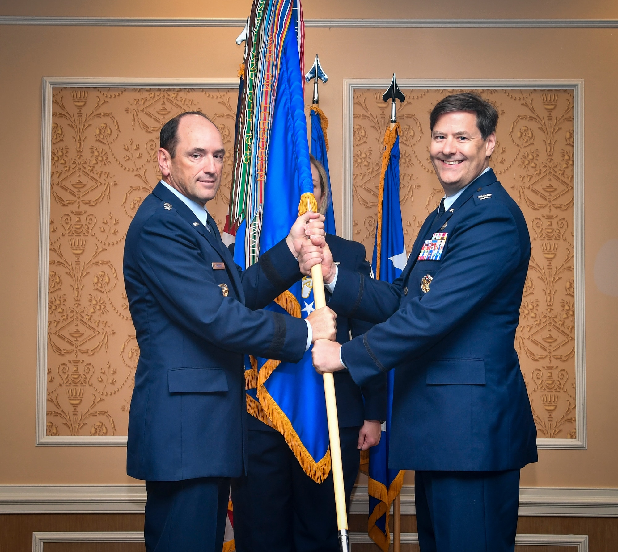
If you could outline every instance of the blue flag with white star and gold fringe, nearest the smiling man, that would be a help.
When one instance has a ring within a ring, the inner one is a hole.
[[[392,127],[392,128],[391,128]],[[371,265],[376,279],[393,282],[405,267],[404,227],[399,204],[399,123],[384,134],[384,156],[378,191],[378,225]],[[388,467],[394,370],[388,372],[386,430],[378,445],[369,450],[368,534],[384,552],[391,542],[389,511],[404,482],[404,470]]]

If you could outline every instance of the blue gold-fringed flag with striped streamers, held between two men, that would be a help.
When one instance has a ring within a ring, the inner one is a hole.
[[[299,0],[254,0],[247,33],[229,214],[224,232],[241,267],[281,241],[298,214],[317,211],[303,91]],[[306,318],[313,282],[303,278],[267,307]],[[247,411],[278,430],[321,483],[331,469],[324,383],[307,351],[298,364],[247,357]]]

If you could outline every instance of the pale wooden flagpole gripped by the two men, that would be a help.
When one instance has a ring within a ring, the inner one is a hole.
[[[313,299],[315,308],[326,306],[324,296],[324,278],[321,265],[311,267],[313,280]],[[345,511],[344,472],[341,463],[341,441],[339,441],[339,420],[337,420],[337,400],[335,398],[335,380],[332,374],[323,374],[324,395],[326,396],[326,416],[328,417],[328,435],[331,441],[332,482],[335,487],[335,507],[337,510],[337,529],[339,530],[339,550],[350,552],[350,537]]]

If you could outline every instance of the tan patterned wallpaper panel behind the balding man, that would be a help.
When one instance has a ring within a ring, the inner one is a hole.
[[[127,228],[161,178],[159,130],[183,111],[209,115],[223,136],[221,190],[208,204],[222,228],[237,89],[50,88],[46,406],[39,441],[124,443],[139,358],[122,278]]]

